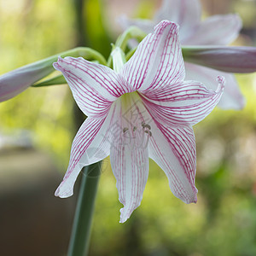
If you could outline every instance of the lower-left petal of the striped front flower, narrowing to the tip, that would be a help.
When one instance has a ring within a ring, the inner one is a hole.
[[[85,119],[73,140],[67,172],[55,191],[56,196],[68,197],[73,195],[73,185],[81,169],[109,155],[111,141],[108,131],[114,123],[115,115],[113,105],[106,119],[90,117]]]

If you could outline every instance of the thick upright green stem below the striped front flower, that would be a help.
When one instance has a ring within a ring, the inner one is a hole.
[[[101,163],[84,167],[67,256],[87,255]]]

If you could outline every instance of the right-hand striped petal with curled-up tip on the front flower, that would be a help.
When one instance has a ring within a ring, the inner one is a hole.
[[[218,90],[195,81],[184,81],[143,97],[143,103],[154,118],[171,127],[195,125],[206,118],[218,104],[224,90],[224,78],[218,77]],[[150,97],[149,97],[150,96]]]

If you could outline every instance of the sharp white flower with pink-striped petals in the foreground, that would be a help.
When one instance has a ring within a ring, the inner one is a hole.
[[[123,223],[142,201],[148,157],[166,173],[174,195],[185,203],[196,202],[192,125],[216,106],[224,79],[216,81],[217,91],[184,81],[177,25],[166,20],[125,64],[120,51],[113,51],[114,70],[83,58],[59,58],[54,63],[88,116],[73,140],[69,166],[55,195],[73,195],[81,168],[110,155],[124,205]]]

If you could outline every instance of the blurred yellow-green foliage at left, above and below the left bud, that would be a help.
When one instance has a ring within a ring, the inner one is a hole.
[[[61,7],[61,8],[60,8]],[[0,73],[74,47],[74,11],[68,0],[0,1]],[[67,85],[30,88],[0,104],[0,133],[34,131],[36,146],[67,165],[73,98]],[[73,131],[74,132],[74,131]],[[60,143],[61,142],[61,143]]]

